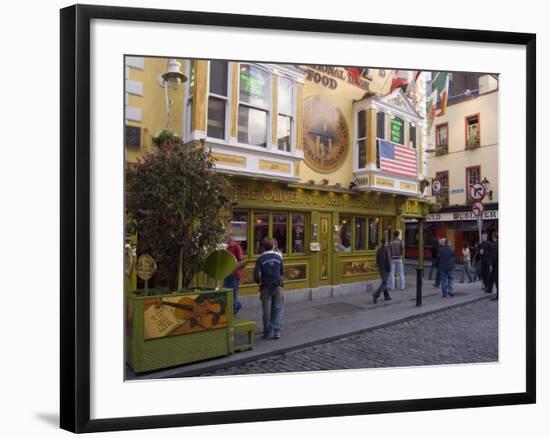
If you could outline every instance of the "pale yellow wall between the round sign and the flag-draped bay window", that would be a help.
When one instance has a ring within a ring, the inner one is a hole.
[[[312,70],[315,70],[314,68],[308,66],[302,66],[302,68],[310,68]],[[372,69],[370,71],[370,74],[372,76],[372,81],[370,82],[370,91],[376,93],[382,92],[381,94],[388,93],[391,85],[391,70],[386,70],[385,77],[380,77],[377,69]],[[336,89],[330,89],[328,87],[322,86],[321,84],[316,84],[313,81],[309,81],[306,79],[304,83],[303,96],[304,100],[307,99],[309,96],[322,96],[329,99],[340,109],[340,111],[342,111],[344,117],[346,118],[349,131],[349,144],[346,159],[344,160],[341,167],[339,167],[337,170],[331,171],[328,174],[320,173],[313,170],[304,160],[304,163],[300,167],[300,177],[304,182],[313,179],[317,183],[319,183],[323,178],[327,178],[329,180],[329,185],[340,183],[343,187],[347,188],[348,184],[353,179],[353,138],[355,130],[353,101],[360,100],[365,95],[366,90],[349,84],[345,80],[336,79],[336,81]]]

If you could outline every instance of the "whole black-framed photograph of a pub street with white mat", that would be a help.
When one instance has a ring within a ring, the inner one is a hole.
[[[535,50],[62,9],[61,427],[535,403]]]

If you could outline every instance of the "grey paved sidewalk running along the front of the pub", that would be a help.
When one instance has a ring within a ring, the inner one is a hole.
[[[385,302],[382,295],[376,305],[372,302],[372,293],[287,302],[282,337],[278,340],[262,339],[261,311],[243,308],[238,317],[257,324],[253,350],[137,376],[127,367],[127,380],[195,376],[488,298],[488,294],[481,291],[479,281],[457,282],[452,298],[442,298],[441,289],[432,284],[433,281],[424,280],[420,307],[416,307],[416,284],[412,275],[407,277],[405,290],[390,291],[392,301]]]

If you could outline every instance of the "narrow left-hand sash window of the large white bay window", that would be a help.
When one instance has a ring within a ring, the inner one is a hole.
[[[228,65],[226,61],[210,61],[208,76],[208,125],[206,135],[225,139],[228,106]]]

